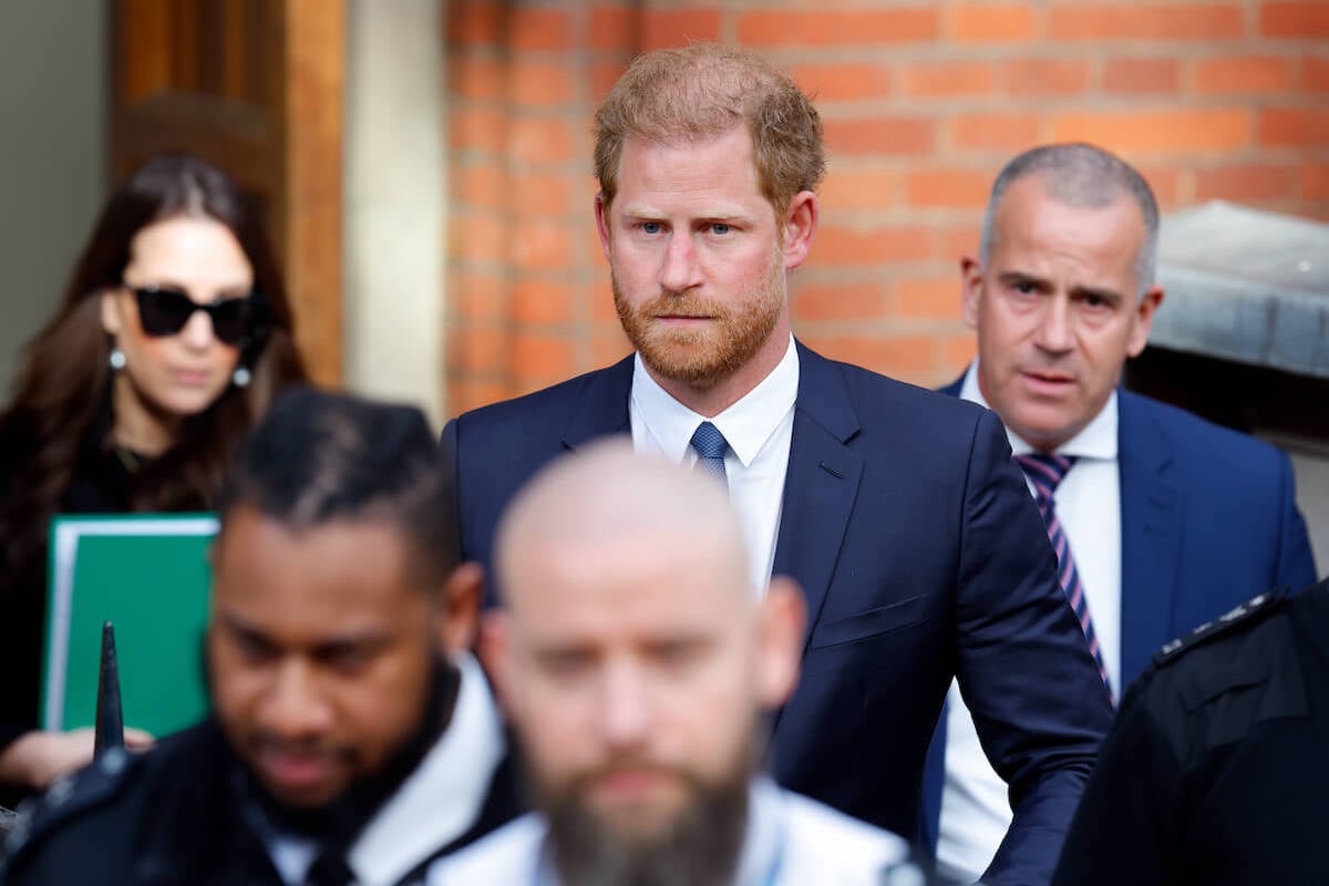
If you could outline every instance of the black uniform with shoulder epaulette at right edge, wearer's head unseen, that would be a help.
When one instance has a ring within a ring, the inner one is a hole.
[[[1329,582],[1159,651],[1054,883],[1329,883]]]

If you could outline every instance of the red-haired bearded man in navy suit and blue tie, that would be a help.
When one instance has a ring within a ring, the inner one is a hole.
[[[488,566],[517,489],[599,437],[710,472],[754,592],[792,576],[808,611],[775,778],[917,833],[958,675],[1015,805],[985,879],[1046,882],[1111,705],[997,417],[795,341],[824,169],[816,109],[760,57],[695,44],[629,66],[595,118],[595,222],[637,352],[449,422],[460,553]]]

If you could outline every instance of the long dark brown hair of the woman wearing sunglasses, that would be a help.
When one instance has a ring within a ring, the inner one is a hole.
[[[304,380],[291,332],[286,287],[255,202],[215,166],[187,154],[162,154],[112,194],[74,267],[60,310],[24,351],[13,400],[0,413],[0,456],[12,482],[0,490],[0,592],[20,584],[47,543],[51,517],[73,481],[88,440],[109,402],[110,339],[101,325],[101,295],[124,284],[134,236],[171,218],[225,224],[254,270],[266,306],[266,335],[241,352],[251,371],[246,388],[229,385],[202,413],[190,416],[170,449],[146,464],[132,485],[130,510],[166,511],[211,505],[227,461],[282,388]]]

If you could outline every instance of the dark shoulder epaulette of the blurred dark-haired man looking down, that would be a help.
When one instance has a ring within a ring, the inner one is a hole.
[[[44,794],[25,800],[0,853],[0,881],[7,869],[16,870],[29,850],[62,825],[118,797],[141,762],[142,754],[106,751],[92,765],[57,778]]]

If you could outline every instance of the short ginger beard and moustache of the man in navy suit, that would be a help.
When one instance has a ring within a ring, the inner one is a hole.
[[[692,388],[710,389],[752,359],[775,329],[784,310],[784,266],[779,252],[769,272],[754,290],[732,303],[691,294],[666,292],[633,307],[610,263],[614,308],[633,348],[657,375]],[[707,329],[662,329],[659,315],[708,316]]]

